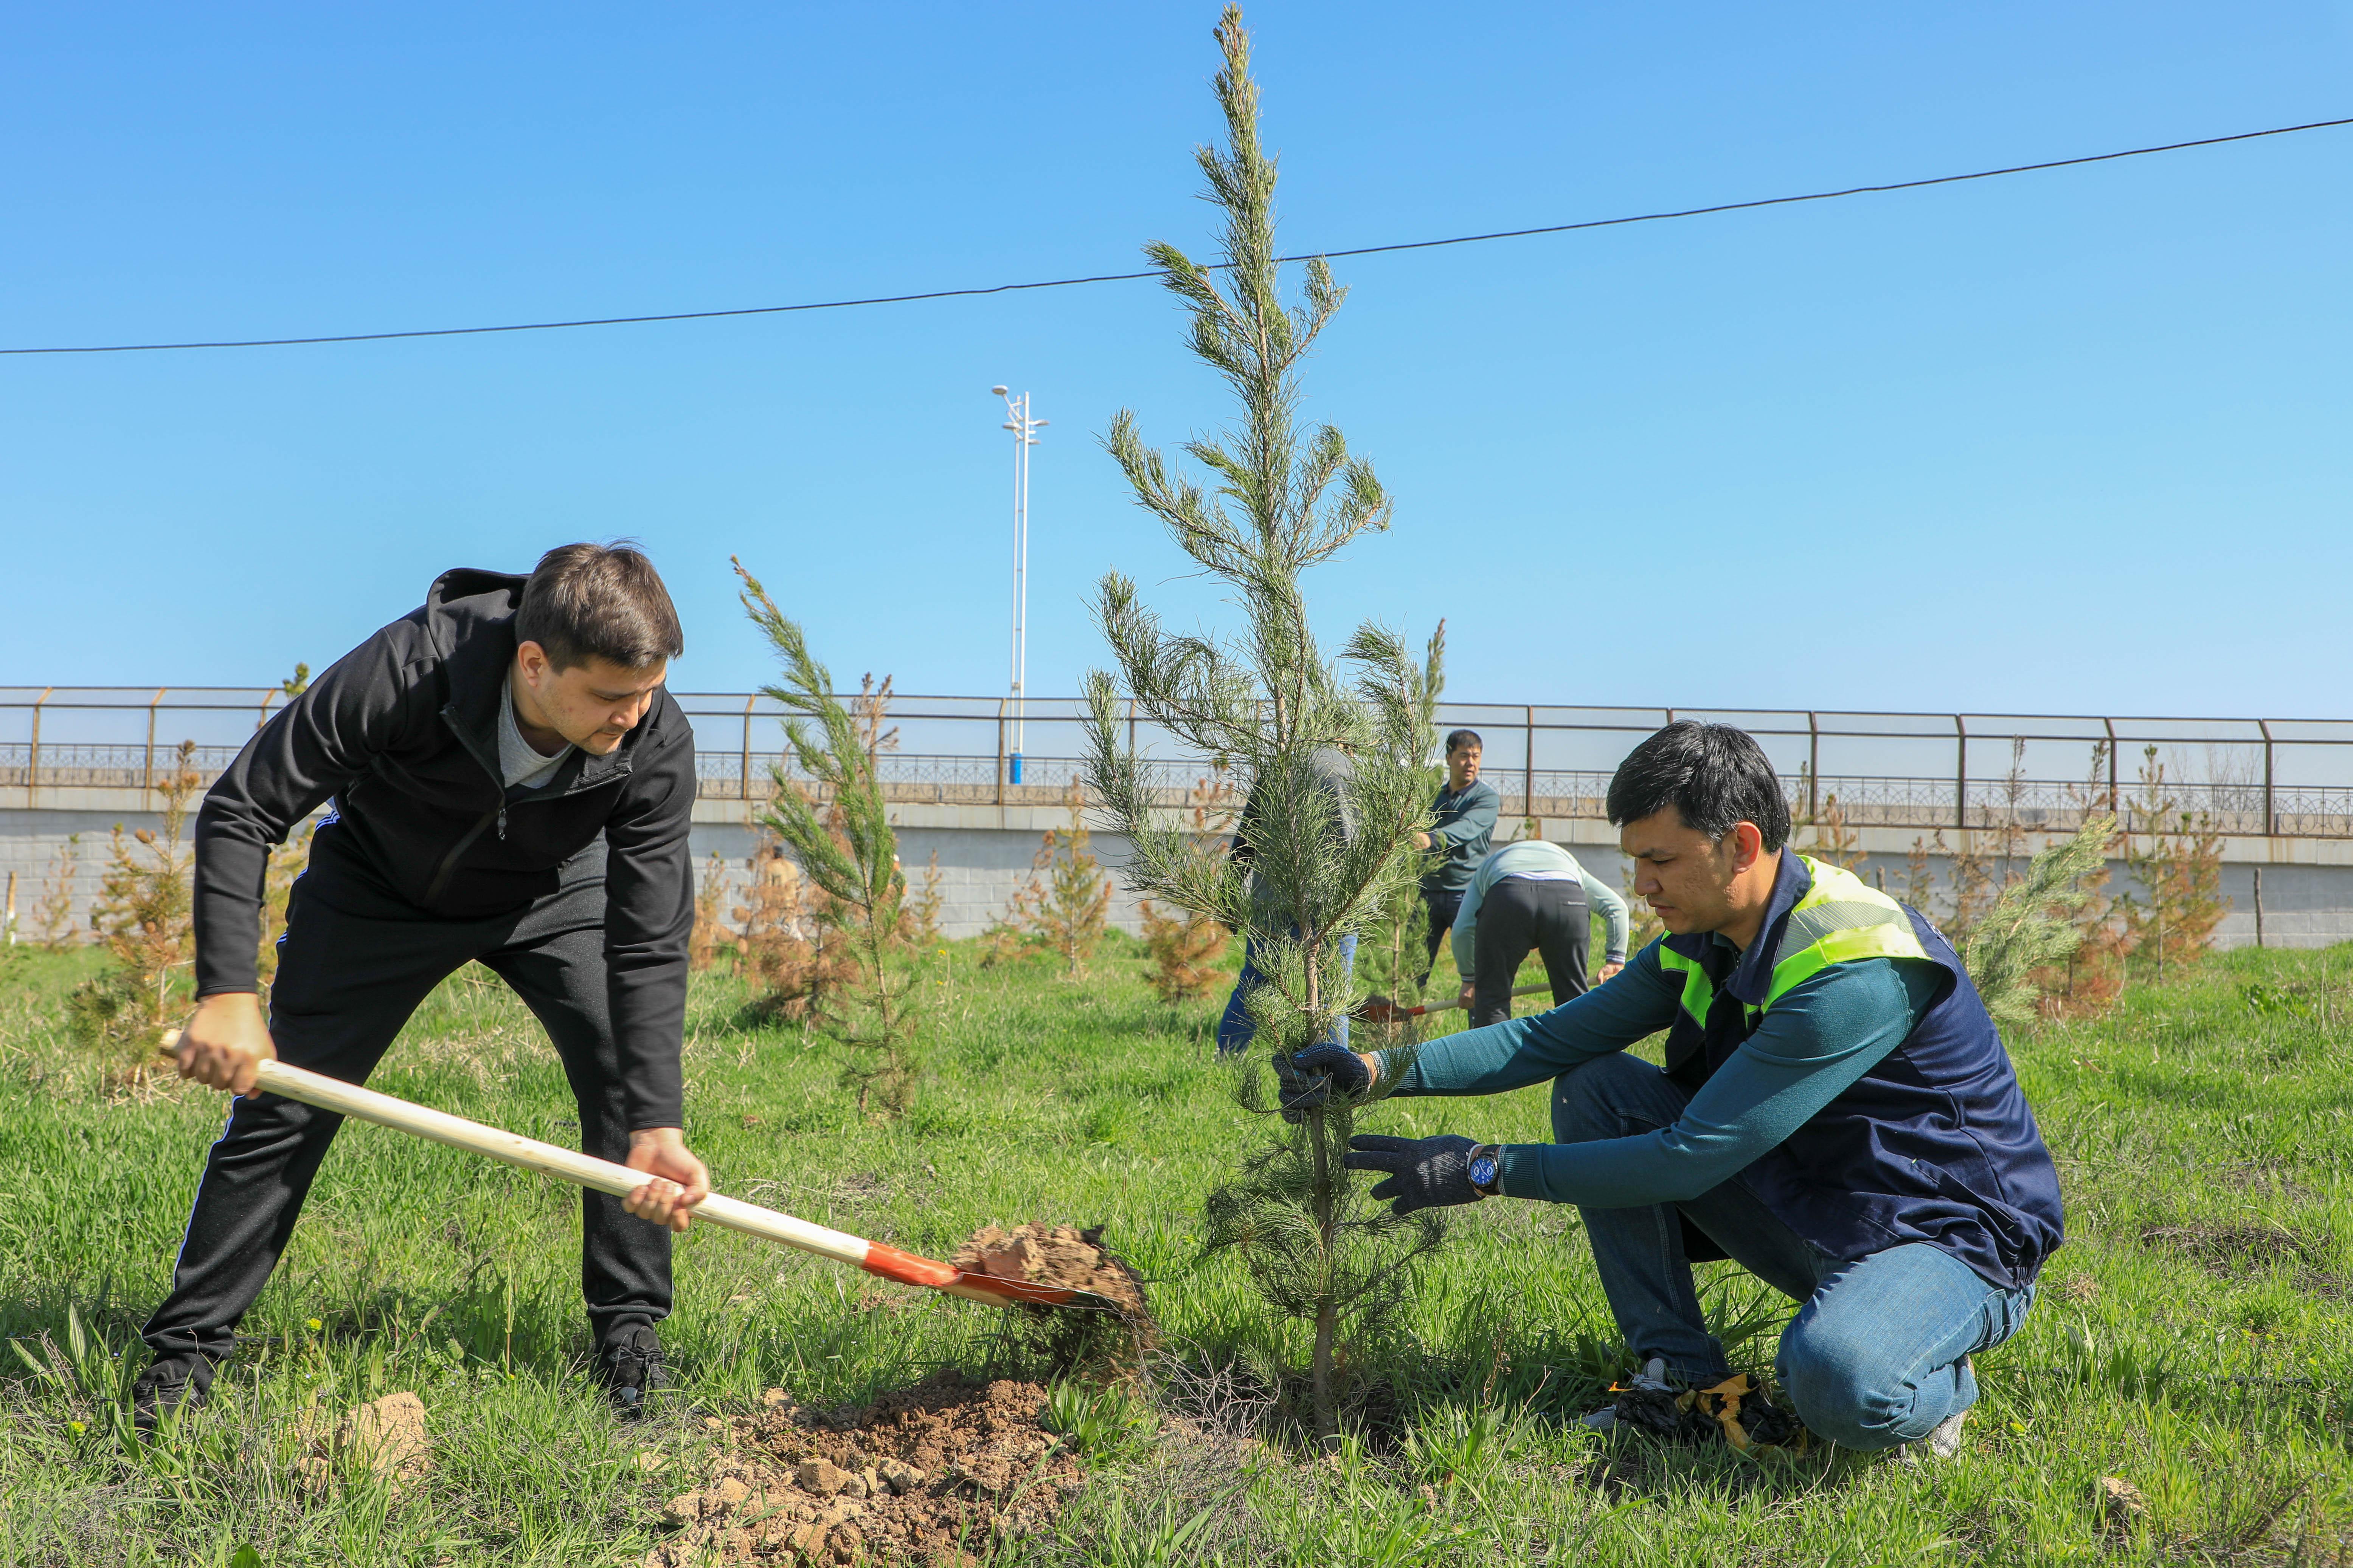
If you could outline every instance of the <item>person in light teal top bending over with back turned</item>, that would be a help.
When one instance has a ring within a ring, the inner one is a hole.
[[[1478,863],[1461,910],[1454,912],[1454,969],[1464,976],[1461,1006],[1471,1025],[1511,1018],[1511,983],[1527,954],[1544,954],[1553,1006],[1586,994],[1591,910],[1609,924],[1600,978],[1626,966],[1626,900],[1577,863],[1560,844],[1520,839]]]

